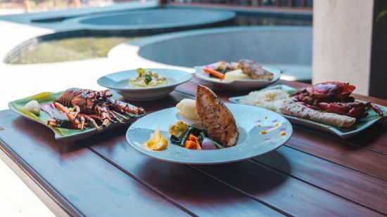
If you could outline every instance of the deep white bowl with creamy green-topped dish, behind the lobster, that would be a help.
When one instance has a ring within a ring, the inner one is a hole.
[[[166,84],[160,84],[154,87],[131,87],[129,79],[134,79],[138,76],[137,70],[127,70],[107,74],[98,79],[97,83],[106,88],[115,90],[124,98],[129,100],[156,100],[164,98],[170,92],[175,90],[176,86],[189,81],[192,74],[182,70],[172,69],[145,69],[152,72],[158,72],[160,76],[167,78]]]

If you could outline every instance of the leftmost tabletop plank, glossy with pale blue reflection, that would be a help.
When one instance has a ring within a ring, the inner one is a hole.
[[[55,140],[45,126],[10,110],[0,119],[1,150],[70,215],[188,215],[90,150]]]

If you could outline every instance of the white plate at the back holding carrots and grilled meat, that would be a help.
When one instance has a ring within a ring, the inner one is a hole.
[[[271,81],[267,80],[258,80],[258,79],[243,79],[243,80],[235,80],[235,81],[224,81],[222,79],[212,78],[210,75],[203,71],[204,66],[196,66],[195,74],[199,79],[203,81],[207,81],[218,88],[230,89],[230,90],[250,90],[253,88],[262,88],[264,86],[268,86],[278,81],[279,77],[281,77],[281,70],[269,69],[267,67],[263,67],[265,70],[272,72],[274,77]]]

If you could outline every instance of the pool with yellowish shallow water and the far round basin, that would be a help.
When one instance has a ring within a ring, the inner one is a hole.
[[[150,15],[152,18],[149,18]],[[179,20],[182,15],[186,19]],[[202,18],[198,19],[198,17]],[[310,26],[312,19],[311,17],[297,18],[284,15],[156,8],[78,16],[77,18],[61,20],[58,25],[71,26],[78,30],[56,32],[25,41],[10,51],[4,58],[4,62],[8,64],[34,64],[103,58],[106,57],[110,48],[118,44],[162,32],[177,32],[212,26]]]

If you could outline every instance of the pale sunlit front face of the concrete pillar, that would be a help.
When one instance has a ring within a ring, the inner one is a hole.
[[[313,1],[313,84],[345,81],[368,95],[372,0]]]

